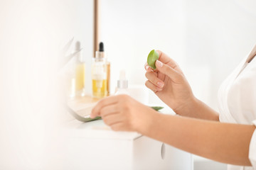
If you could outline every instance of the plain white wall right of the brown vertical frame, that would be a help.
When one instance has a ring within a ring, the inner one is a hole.
[[[176,60],[194,94],[217,107],[221,82],[256,43],[256,2],[101,1],[101,40],[112,62],[112,89],[119,69],[130,84],[144,84],[144,63],[159,49]],[[150,102],[161,105],[154,94]]]

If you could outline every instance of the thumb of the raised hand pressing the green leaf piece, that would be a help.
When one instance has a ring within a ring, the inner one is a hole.
[[[163,62],[160,62],[159,60],[156,60],[156,68],[159,70],[159,72],[165,74],[168,76],[172,81],[178,82],[181,80],[182,76],[179,72],[177,72],[175,69],[171,68],[168,64],[164,64]]]

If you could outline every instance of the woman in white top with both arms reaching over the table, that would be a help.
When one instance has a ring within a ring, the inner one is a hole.
[[[91,117],[102,116],[112,130],[137,131],[186,152],[232,164],[228,169],[256,169],[256,46],[223,82],[220,113],[193,96],[178,64],[158,52],[156,72],[145,66],[146,86],[181,116],[158,113],[120,95],[102,99]]]

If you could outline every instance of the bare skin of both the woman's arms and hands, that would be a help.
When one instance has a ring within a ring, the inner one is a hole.
[[[178,64],[161,51],[156,70],[147,64],[146,86],[178,115],[164,115],[127,95],[103,98],[91,118],[102,116],[116,131],[136,131],[186,152],[226,164],[251,166],[253,125],[220,123],[218,113],[199,101]]]

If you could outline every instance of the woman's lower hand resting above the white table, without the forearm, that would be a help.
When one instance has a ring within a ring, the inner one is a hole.
[[[91,118],[101,116],[112,130],[145,132],[154,123],[154,109],[127,95],[103,98],[92,109]]]

